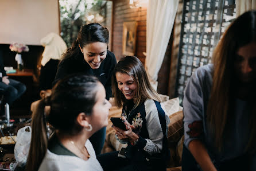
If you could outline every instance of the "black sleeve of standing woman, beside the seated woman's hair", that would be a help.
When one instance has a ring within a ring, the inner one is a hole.
[[[115,68],[115,65],[117,64],[117,59],[115,59],[115,55],[112,52],[108,52],[109,56],[111,58],[111,65],[110,65],[110,74],[107,78],[107,82],[105,84],[105,90],[106,90],[106,99],[109,100],[112,97],[112,90],[111,90],[111,78],[113,75],[113,71]]]

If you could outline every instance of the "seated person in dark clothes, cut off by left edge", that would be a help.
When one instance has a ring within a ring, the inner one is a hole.
[[[5,103],[11,105],[16,99],[20,98],[26,91],[26,85],[19,81],[9,79],[3,65],[3,53],[0,50],[0,90],[3,91],[3,102],[1,103],[1,114],[4,114]]]

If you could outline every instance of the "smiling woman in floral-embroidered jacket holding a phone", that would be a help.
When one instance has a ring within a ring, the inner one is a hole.
[[[169,117],[149,83],[141,61],[126,56],[116,65],[112,88],[115,104],[123,107],[126,130],[114,127],[119,142],[127,143],[126,158],[119,151],[97,156],[104,170],[166,170]]]

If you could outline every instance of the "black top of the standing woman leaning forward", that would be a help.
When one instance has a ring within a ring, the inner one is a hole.
[[[83,55],[75,57],[68,57],[60,61],[55,76],[55,83],[57,80],[73,73],[84,73],[87,75],[93,75],[98,77],[99,81],[104,85],[106,89],[106,99],[112,96],[111,91],[111,76],[114,70],[117,60],[114,53],[107,50],[106,59],[102,61],[98,69],[92,69],[90,65],[84,60]]]

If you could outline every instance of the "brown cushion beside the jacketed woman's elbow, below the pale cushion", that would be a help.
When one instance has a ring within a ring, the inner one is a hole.
[[[184,126],[183,126],[183,111],[175,112],[174,114],[169,116],[170,123],[168,125],[168,145],[176,146],[176,143],[180,140],[180,138],[184,134]]]

